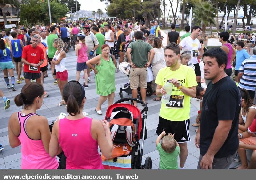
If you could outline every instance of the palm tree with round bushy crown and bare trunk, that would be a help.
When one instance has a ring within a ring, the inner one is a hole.
[[[215,8],[211,3],[208,1],[201,1],[200,3],[196,4],[194,8],[194,23],[195,25],[202,25],[202,39],[205,39],[205,30],[206,26],[211,24],[215,25]]]

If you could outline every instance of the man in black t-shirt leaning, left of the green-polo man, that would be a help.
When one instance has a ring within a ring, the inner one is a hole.
[[[130,29],[125,29],[124,33],[119,35],[117,43],[116,43],[116,51],[120,55],[119,64],[122,63],[123,60],[124,60],[124,47],[125,47],[125,44],[127,44],[127,43],[129,43],[131,41],[131,39],[126,41],[126,37],[125,37],[125,36],[129,35],[129,33],[130,33],[129,31],[130,31]]]

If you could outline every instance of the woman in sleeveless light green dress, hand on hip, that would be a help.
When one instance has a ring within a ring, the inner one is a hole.
[[[86,61],[86,65],[95,73],[96,93],[100,95],[95,108],[97,114],[102,115],[101,105],[108,99],[108,107],[113,104],[115,97],[115,65],[110,54],[110,47],[103,44],[102,54]],[[96,66],[94,67],[93,65]]]

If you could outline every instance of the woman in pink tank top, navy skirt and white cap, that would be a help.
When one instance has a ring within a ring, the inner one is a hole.
[[[84,88],[88,88],[88,74],[87,74],[87,65],[86,61],[88,61],[87,56],[87,45],[85,43],[85,35],[82,33],[79,33],[77,35],[77,39],[79,41],[79,44],[76,44],[75,52],[77,56],[77,63],[76,63],[76,81],[79,81],[80,79],[80,73],[81,71],[84,71],[84,80],[85,83],[83,85]]]

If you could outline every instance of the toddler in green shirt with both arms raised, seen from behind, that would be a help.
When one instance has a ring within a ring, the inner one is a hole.
[[[173,138],[174,134],[165,136],[163,131],[156,139],[156,149],[160,155],[159,169],[179,169],[178,155],[180,154],[180,146]],[[160,143],[160,140],[162,142]]]

